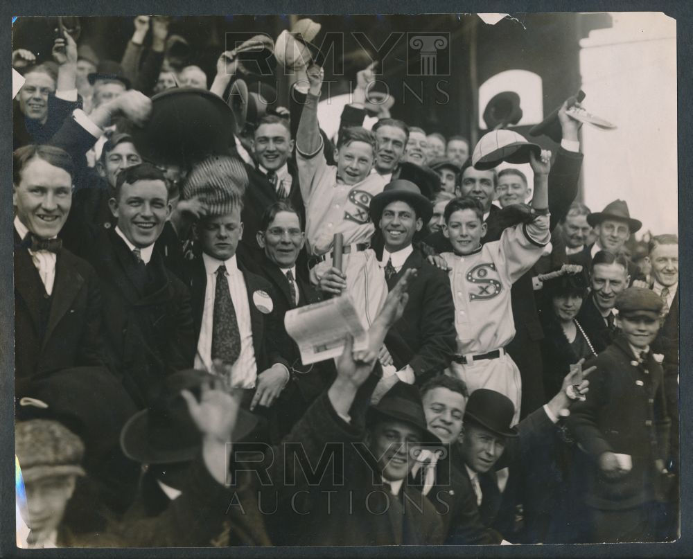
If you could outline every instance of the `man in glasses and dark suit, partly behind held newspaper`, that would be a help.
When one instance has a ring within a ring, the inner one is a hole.
[[[306,240],[302,224],[292,204],[288,201],[274,202],[265,210],[257,233],[258,245],[265,251],[260,275],[272,284],[276,295],[275,312],[282,334],[277,346],[281,348],[282,357],[290,364],[291,380],[276,405],[281,434],[291,430],[310,403],[331,384],[335,375],[331,360],[304,367],[296,342],[283,327],[287,311],[322,300],[322,294],[297,266],[297,258]]]

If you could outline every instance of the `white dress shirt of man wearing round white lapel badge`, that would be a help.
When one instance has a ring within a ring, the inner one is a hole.
[[[195,356],[195,369],[211,371],[212,353],[212,321],[214,317],[214,292],[216,290],[217,270],[220,266],[226,267],[231,301],[234,302],[238,331],[240,332],[240,355],[231,366],[232,388],[254,388],[257,380],[257,364],[255,362],[255,350],[253,348],[253,331],[250,323],[250,304],[248,292],[245,286],[243,272],[238,269],[236,255],[222,262],[207,254],[202,254],[204,271],[207,274],[207,287],[204,290],[204,307],[202,310],[202,324],[200,327],[200,339],[198,339],[198,355]]]

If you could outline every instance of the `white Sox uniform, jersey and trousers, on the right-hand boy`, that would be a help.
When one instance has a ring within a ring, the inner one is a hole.
[[[450,287],[455,301],[457,354],[467,364],[453,362],[446,371],[464,380],[469,392],[488,388],[505,394],[520,416],[520,371],[502,350],[515,336],[510,290],[542,254],[550,240],[549,216],[518,224],[503,231],[500,240],[487,242],[465,256],[441,254],[450,268]],[[471,359],[473,355],[500,350],[497,359]]]

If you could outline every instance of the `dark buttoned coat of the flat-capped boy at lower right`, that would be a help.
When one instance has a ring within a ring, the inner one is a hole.
[[[586,400],[574,404],[568,419],[593,459],[587,504],[622,510],[661,498],[655,460],[666,459],[669,441],[662,367],[652,353],[638,364],[623,335],[585,364],[593,365],[597,369],[590,373]],[[629,454],[633,468],[618,479],[606,479],[598,466],[604,452]]]

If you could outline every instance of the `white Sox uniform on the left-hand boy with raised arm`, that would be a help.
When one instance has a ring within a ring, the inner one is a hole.
[[[344,247],[369,244],[375,231],[369,206],[371,198],[383,192],[385,179],[375,173],[358,184],[337,183],[337,168],[327,164],[322,142],[313,154],[304,154],[298,148],[296,154],[301,195],[306,206],[308,254],[320,256],[330,252],[335,233],[344,236]],[[344,254],[342,262],[347,293],[365,326],[371,325],[387,297],[383,269],[374,254],[368,252],[352,250]],[[332,258],[327,256],[311,270],[311,281],[317,284],[331,267]]]

